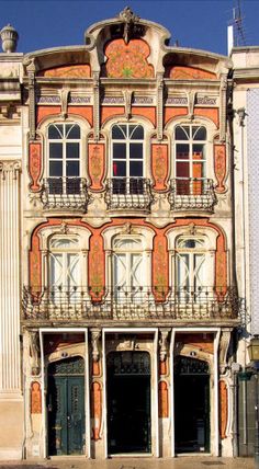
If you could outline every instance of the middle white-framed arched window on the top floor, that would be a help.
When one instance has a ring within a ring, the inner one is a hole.
[[[144,178],[144,128],[139,124],[112,127],[114,194],[142,194]]]

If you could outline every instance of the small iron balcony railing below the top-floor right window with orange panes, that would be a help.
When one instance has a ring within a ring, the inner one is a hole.
[[[173,179],[170,181],[171,210],[205,210],[212,213],[217,203],[213,180]]]

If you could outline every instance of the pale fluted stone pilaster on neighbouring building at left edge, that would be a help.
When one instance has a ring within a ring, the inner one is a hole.
[[[20,170],[20,161],[0,162],[0,399],[21,391]]]

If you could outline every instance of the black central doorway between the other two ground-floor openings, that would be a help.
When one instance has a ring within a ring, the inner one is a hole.
[[[149,362],[146,352],[108,356],[109,454],[151,451]]]

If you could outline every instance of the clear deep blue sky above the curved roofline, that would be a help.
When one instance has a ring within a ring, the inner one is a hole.
[[[166,26],[182,47],[227,54],[227,25],[238,0],[0,0],[0,28],[19,32],[18,52],[83,44],[93,23],[126,5]],[[240,0],[247,45],[259,45],[259,0]]]

